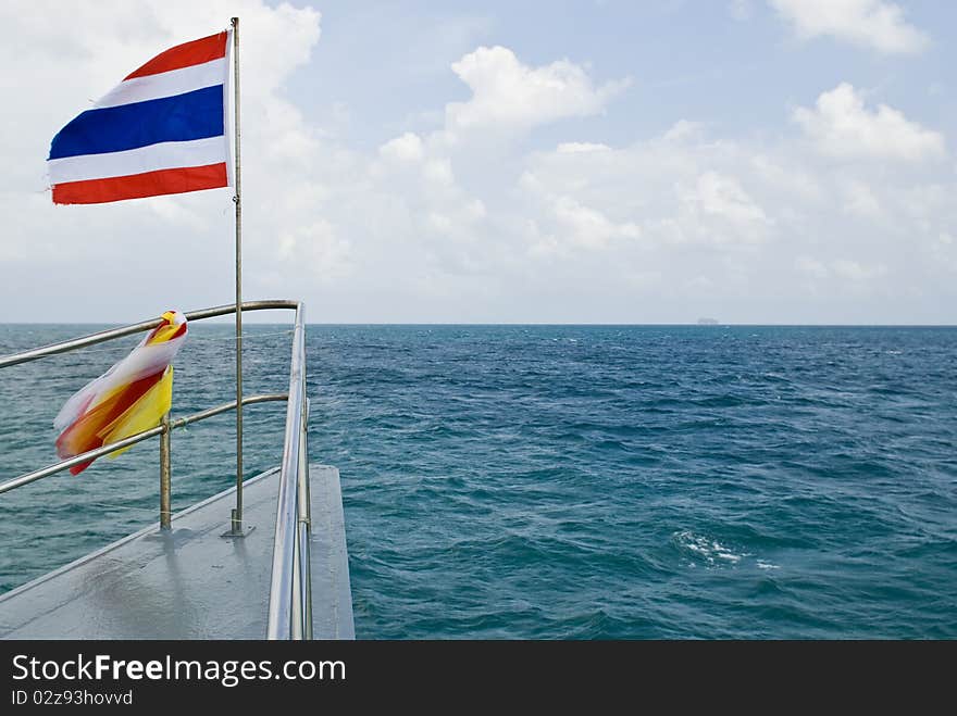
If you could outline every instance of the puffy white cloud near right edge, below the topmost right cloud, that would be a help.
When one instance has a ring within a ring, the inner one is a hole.
[[[946,154],[943,135],[886,104],[868,110],[847,83],[822,92],[813,109],[797,108],[793,117],[822,153],[836,159],[918,162]]]

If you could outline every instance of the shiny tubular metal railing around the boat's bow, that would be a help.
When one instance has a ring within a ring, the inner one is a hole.
[[[272,579],[270,587],[268,633],[269,639],[312,638],[312,593],[310,579],[310,510],[309,510],[309,459],[307,449],[307,418],[309,406],[306,398],[306,324],[304,304],[296,301],[247,301],[241,311],[293,309],[296,311],[293,328],[293,355],[289,364],[289,390],[287,393],[264,393],[245,397],[243,405],[272,401],[286,401],[286,427],[283,445],[283,463],[279,470],[279,490],[276,504],[276,531],[273,543]],[[222,305],[186,313],[187,322],[201,321],[236,312],[236,305]],[[0,357],[0,368],[5,368],[48,355],[66,353],[105,341],[151,330],[162,323],[161,318],[103,330],[82,338],[52,343]],[[170,436],[176,428],[190,423],[236,410],[238,401],[224,403],[185,417],[171,419],[166,414],[154,428],[62,460],[52,465],[20,475],[0,482],[0,494],[29,485],[36,480],[61,473],[74,465],[109,454],[121,448],[160,436],[160,529],[170,529],[171,513],[171,450]],[[237,441],[237,452],[241,441]],[[237,505],[241,505],[243,486],[236,486]],[[235,511],[234,511],[235,515]],[[234,535],[235,536],[235,535]]]

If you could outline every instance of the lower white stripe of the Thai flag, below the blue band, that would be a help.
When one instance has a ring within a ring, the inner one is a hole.
[[[125,152],[65,156],[47,162],[51,184],[105,179],[183,166],[206,166],[226,161],[223,136],[192,141],[166,141]]]

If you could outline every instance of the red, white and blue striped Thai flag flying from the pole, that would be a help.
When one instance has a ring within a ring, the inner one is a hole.
[[[231,33],[158,54],[63,127],[47,160],[53,203],[232,186]]]

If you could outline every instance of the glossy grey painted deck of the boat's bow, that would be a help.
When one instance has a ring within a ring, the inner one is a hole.
[[[339,472],[311,465],[314,639],[355,639]],[[3,639],[264,639],[278,468],[0,595]]]

